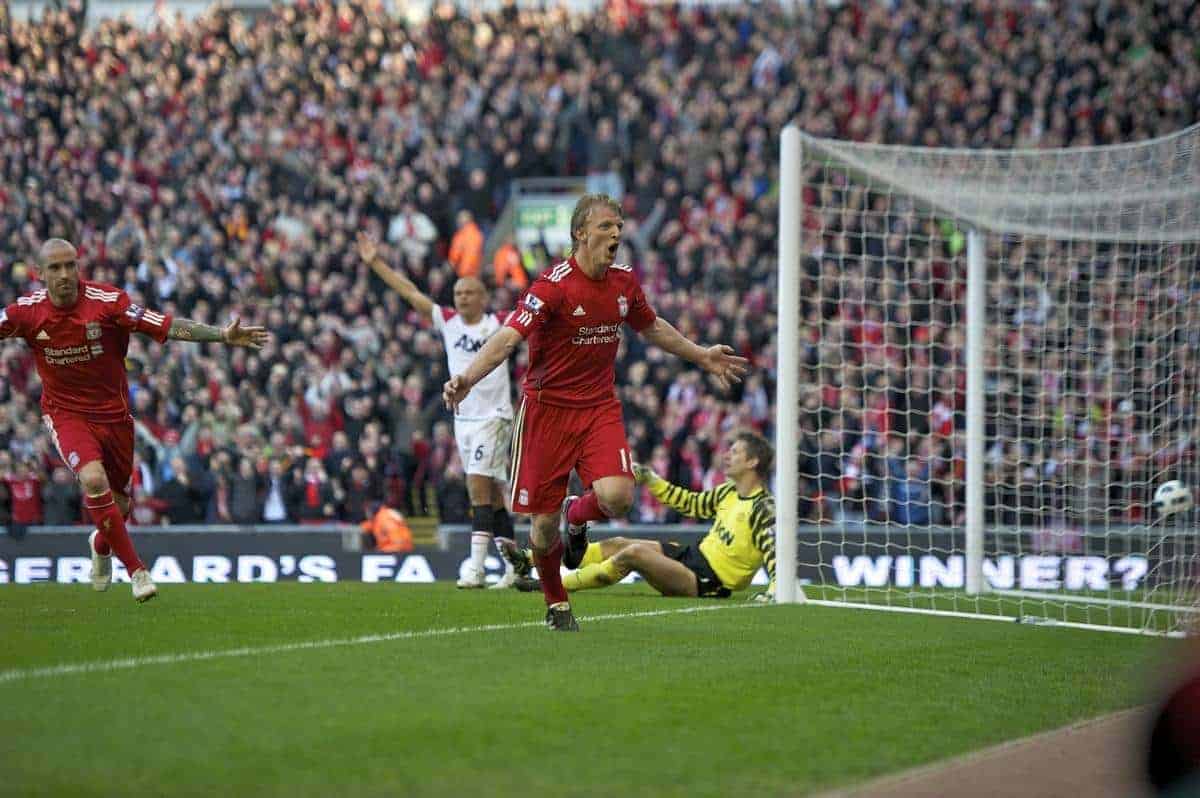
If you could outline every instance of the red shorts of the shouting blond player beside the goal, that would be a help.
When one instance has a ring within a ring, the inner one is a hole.
[[[558,512],[572,468],[587,486],[605,476],[632,479],[620,402],[559,407],[526,396],[512,426],[512,511]]]

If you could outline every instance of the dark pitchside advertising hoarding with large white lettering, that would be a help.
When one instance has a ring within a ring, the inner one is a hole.
[[[673,534],[682,541],[698,534]],[[451,535],[449,547],[419,547],[408,553],[347,551],[334,533],[143,533],[142,558],[156,582],[436,582],[458,578],[469,559],[469,536]],[[930,551],[912,554],[899,546],[871,542],[820,542],[802,557],[802,582],[840,587],[961,588],[965,562],[952,551],[954,535],[935,536]],[[960,541],[959,541],[960,542]],[[0,584],[86,582],[91,560],[82,535],[30,534],[0,538]],[[895,551],[892,551],[892,550]],[[1111,546],[1110,546],[1111,548]],[[820,554],[821,565],[811,562]],[[805,562],[809,560],[809,562]],[[1157,560],[1133,551],[1106,553],[1012,553],[984,558],[984,577],[997,589],[1133,590],[1146,587]],[[502,572],[493,554],[488,578]],[[114,577],[128,581],[114,560]],[[760,572],[755,583],[766,583]]]

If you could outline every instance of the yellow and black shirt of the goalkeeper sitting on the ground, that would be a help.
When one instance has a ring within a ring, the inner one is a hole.
[[[700,552],[725,587],[745,588],[763,564],[775,583],[775,499],[767,488],[738,496],[733,482],[725,482],[697,493],[661,476],[650,480],[649,488],[659,502],[690,518],[715,518]]]

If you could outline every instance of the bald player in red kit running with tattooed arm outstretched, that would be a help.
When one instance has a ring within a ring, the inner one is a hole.
[[[133,305],[119,288],[82,280],[76,248],[62,239],[42,245],[38,277],[46,288],[0,310],[0,338],[24,338],[34,350],[42,378],[42,421],[79,478],[96,523],[89,538],[91,586],[108,589],[115,552],[130,574],[133,598],[146,601],[157,588],[125,527],[133,473],[133,416],[125,378],[130,334],[160,343],[174,338],[254,349],[268,334],[236,319],[221,329]]]

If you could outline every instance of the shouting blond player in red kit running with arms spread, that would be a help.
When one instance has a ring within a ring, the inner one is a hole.
[[[546,596],[546,624],[575,631],[559,565],[577,568],[589,521],[620,517],[634,502],[634,457],[625,439],[614,364],[620,326],[714,374],[740,382],[748,361],[733,349],[683,337],[646,301],[632,268],[613,263],[624,227],[620,205],[586,194],[571,214],[571,257],[546,269],[467,370],[446,382],[457,407],[472,386],[529,342],[529,370],[512,433],[512,511],[533,516],[533,559]],[[589,487],[568,497],[571,469]],[[562,534],[559,518],[562,517]]]

